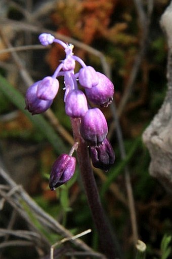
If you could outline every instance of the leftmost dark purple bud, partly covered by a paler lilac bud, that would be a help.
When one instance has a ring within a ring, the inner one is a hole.
[[[45,101],[37,98],[36,92],[37,92],[37,86],[39,83],[40,81],[34,83],[26,91],[25,108],[28,109],[28,111],[32,115],[44,113],[48,108],[50,108],[50,106],[53,103],[53,100]]]

